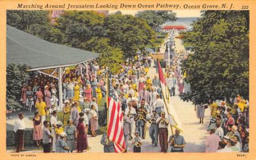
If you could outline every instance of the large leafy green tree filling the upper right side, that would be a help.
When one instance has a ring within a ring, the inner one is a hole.
[[[195,104],[209,100],[249,97],[248,11],[205,11],[184,34],[184,42],[193,45],[195,54],[182,63],[191,92],[183,100]]]

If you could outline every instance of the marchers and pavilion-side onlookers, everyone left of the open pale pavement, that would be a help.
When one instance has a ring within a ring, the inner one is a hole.
[[[164,74],[172,96],[177,95],[177,82],[180,82],[179,91],[184,91],[178,63],[177,58],[173,59],[175,65],[166,68]],[[165,118],[159,78],[158,75],[153,79],[147,76],[151,65],[155,65],[157,69],[157,63],[152,60],[151,55],[135,56],[132,63],[125,62],[122,70],[111,76],[111,84],[118,95],[124,115],[126,147],[128,141],[131,141],[134,144],[134,152],[140,152],[146,126],[150,124],[149,134],[153,146],[157,147],[159,140],[161,152],[167,152],[168,145],[174,148],[172,152],[182,152],[183,147],[180,146],[185,145],[185,141],[179,135],[179,130],[177,135],[168,141],[169,122]],[[43,143],[44,152],[49,152],[49,148],[52,148],[51,152],[83,152],[88,148],[88,131],[95,137],[99,129],[99,106],[102,106],[102,99],[106,97],[105,75],[106,68],[99,67],[96,61],[92,61],[87,67],[80,65],[72,69],[66,68],[63,75],[62,108],[58,107],[56,79],[36,75],[31,77],[28,85],[24,84],[21,102],[24,108],[28,108],[28,99],[35,104],[33,140],[38,147]],[[61,118],[58,116],[60,113]],[[101,140],[104,151],[115,152],[113,143],[105,139],[106,133]]]

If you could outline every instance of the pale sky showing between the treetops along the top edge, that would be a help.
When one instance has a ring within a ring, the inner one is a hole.
[[[135,15],[138,10],[120,10],[123,14]],[[115,13],[116,10],[109,10],[109,13]],[[200,10],[173,10],[177,17],[200,17]]]

